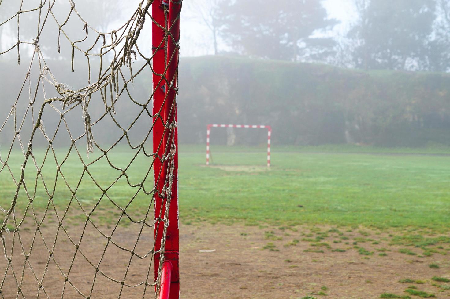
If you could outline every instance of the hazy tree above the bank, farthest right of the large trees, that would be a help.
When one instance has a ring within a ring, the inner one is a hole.
[[[356,0],[359,21],[349,32],[354,61],[364,69],[426,69],[435,0]]]

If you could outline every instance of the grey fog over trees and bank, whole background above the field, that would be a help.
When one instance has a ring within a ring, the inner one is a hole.
[[[37,1],[23,1],[22,7],[19,1],[0,1],[2,147],[17,130],[11,118],[3,123],[16,101],[15,113],[23,117],[30,94],[38,102],[57,95],[47,81],[46,93],[42,87],[36,89],[42,67],[36,59],[31,81],[23,85],[39,26],[44,28],[39,46],[45,60],[40,63],[50,67],[58,83],[77,90],[93,84],[99,72],[98,56],[90,56],[88,62],[83,53],[99,52],[101,41],[95,44],[95,31],[120,28],[139,2],[56,0],[53,16],[42,27]],[[75,13],[67,18],[72,4],[81,18]],[[48,5],[44,4],[44,12]],[[274,6],[256,0],[186,0],[183,5],[180,142],[205,142],[208,123],[255,123],[271,125],[273,140],[280,145],[450,145],[450,1],[284,0]],[[22,11],[19,18],[18,11]],[[87,37],[83,20],[90,32]],[[58,24],[63,23],[62,32]],[[138,45],[149,57],[151,30],[150,23],[146,25]],[[81,49],[74,51],[73,63],[72,42]],[[111,52],[104,57],[104,63],[111,64],[114,56]],[[140,55],[132,57],[135,70],[143,63]],[[150,82],[151,71],[143,71],[134,79],[131,96],[146,101]],[[139,109],[122,96],[115,117],[126,126]],[[94,97],[90,116],[98,119],[104,111],[101,97]],[[81,110],[74,109],[73,114],[67,119],[81,136],[85,126]],[[139,121],[135,127],[151,124],[151,118]],[[44,123],[51,132],[58,118],[46,116]],[[109,136],[122,134],[111,128],[117,126],[98,125],[93,132],[96,140],[106,142]],[[23,130],[31,132],[31,123]],[[143,132],[135,130],[136,140]],[[265,142],[264,132],[218,134],[222,135],[217,142],[224,144]],[[67,142],[64,138],[61,145]]]

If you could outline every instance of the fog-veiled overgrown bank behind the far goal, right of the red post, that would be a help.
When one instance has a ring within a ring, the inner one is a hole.
[[[256,123],[272,125],[275,144],[450,144],[447,74],[198,57],[182,60],[180,90],[183,142],[205,141],[207,123]]]

